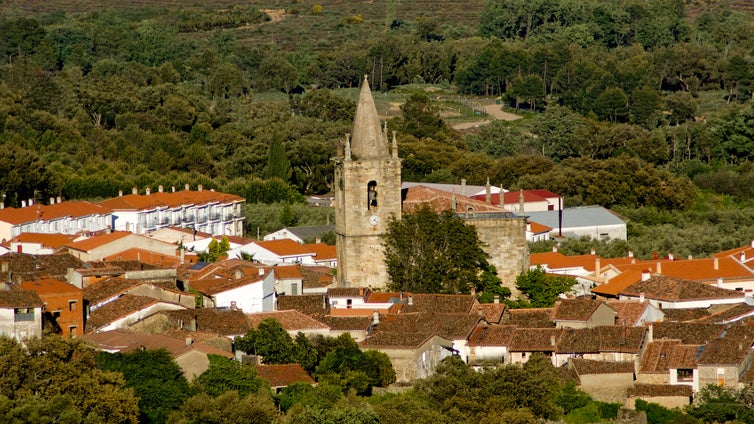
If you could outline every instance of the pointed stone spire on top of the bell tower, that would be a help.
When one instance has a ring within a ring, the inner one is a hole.
[[[351,152],[357,160],[379,159],[388,156],[387,136],[382,132],[380,117],[374,105],[369,81],[364,75],[361,84],[359,103],[356,106],[356,116],[353,119],[353,134],[351,137]]]

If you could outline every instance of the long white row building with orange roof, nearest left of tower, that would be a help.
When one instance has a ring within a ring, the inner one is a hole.
[[[164,191],[160,186],[157,192],[145,189],[138,194],[136,187],[131,194],[110,198],[98,205],[112,211],[112,228],[145,234],[170,226],[191,228],[213,236],[243,235],[243,205],[245,199],[233,194],[203,190]]]

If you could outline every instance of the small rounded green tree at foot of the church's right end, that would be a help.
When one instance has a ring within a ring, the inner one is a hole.
[[[516,277],[516,287],[526,298],[511,302],[514,307],[549,308],[558,296],[571,291],[576,284],[573,277],[547,275],[544,269],[530,269]]]

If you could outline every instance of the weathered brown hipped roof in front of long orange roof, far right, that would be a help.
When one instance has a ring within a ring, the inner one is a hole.
[[[690,301],[708,299],[741,298],[743,294],[728,289],[709,286],[690,280],[680,280],[665,275],[654,275],[649,280],[639,281],[621,291],[621,295],[640,296],[664,301]]]

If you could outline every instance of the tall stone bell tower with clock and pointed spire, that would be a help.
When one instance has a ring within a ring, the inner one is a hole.
[[[390,216],[401,218],[401,160],[395,132],[388,149],[366,76],[352,134],[334,161],[338,287],[384,288],[382,238]]]

